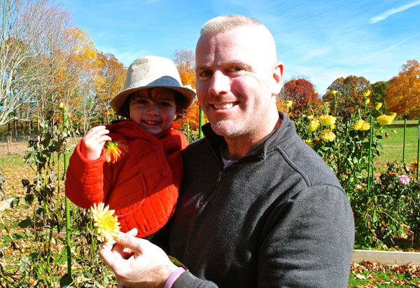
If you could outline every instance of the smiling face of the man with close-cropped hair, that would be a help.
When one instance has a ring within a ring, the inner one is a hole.
[[[253,137],[271,123],[276,63],[260,49],[258,31],[239,27],[203,35],[197,43],[197,98],[218,135]]]

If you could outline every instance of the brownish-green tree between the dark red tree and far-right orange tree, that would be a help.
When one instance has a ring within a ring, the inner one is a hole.
[[[365,90],[371,90],[370,82],[366,78],[353,75],[340,77],[328,86],[322,100],[330,104],[332,111],[346,118],[365,105]]]

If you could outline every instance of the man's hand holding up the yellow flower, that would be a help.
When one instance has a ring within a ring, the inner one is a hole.
[[[176,266],[160,247],[136,238],[137,229],[120,233],[117,244],[104,243],[99,252],[116,274],[118,284],[126,287],[163,287]]]

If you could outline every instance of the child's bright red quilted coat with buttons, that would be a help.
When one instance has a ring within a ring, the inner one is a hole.
[[[83,208],[104,202],[116,210],[121,231],[137,228],[137,237],[144,238],[174,213],[183,175],[180,151],[187,139],[172,128],[155,137],[133,121],[106,128],[113,141],[127,145],[128,153],[106,163],[103,149],[99,159],[88,160],[78,142],[66,174],[66,196]]]

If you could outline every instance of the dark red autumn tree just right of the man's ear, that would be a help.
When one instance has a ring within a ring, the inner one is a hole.
[[[309,105],[317,109],[322,100],[318,98],[318,93],[314,85],[304,78],[291,79],[284,83],[279,97],[283,102],[293,101],[293,114],[301,114]]]

